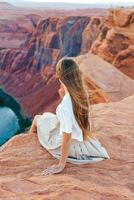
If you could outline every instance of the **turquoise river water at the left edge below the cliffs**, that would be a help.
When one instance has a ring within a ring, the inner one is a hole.
[[[0,107],[0,146],[20,129],[16,114],[8,107]]]

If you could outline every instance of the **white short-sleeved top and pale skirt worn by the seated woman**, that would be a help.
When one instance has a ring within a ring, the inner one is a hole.
[[[61,157],[62,133],[72,134],[67,162],[87,164],[110,159],[106,149],[98,139],[83,141],[83,134],[78,125],[69,93],[66,93],[56,108],[56,114],[44,112],[37,118],[37,135],[40,144],[55,158]]]

